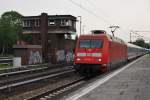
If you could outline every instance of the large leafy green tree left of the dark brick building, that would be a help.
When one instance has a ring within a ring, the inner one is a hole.
[[[22,37],[22,15],[16,11],[8,11],[0,18],[1,54],[8,53],[12,45]]]

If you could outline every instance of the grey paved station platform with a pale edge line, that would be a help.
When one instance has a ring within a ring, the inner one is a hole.
[[[75,91],[65,100],[150,100],[150,55]]]

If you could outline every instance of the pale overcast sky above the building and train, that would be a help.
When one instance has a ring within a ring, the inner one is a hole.
[[[93,29],[107,30],[110,34],[108,27],[118,25],[115,36],[125,41],[129,41],[131,30],[150,31],[150,0],[0,0],[0,15],[10,10],[24,16],[42,12],[82,16],[84,34]],[[139,34],[150,39],[150,32]]]

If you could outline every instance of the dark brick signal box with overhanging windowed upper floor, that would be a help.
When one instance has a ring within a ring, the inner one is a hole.
[[[23,34],[32,35],[28,44],[42,45],[42,55],[46,61],[56,63],[66,60],[66,50],[74,48],[75,41],[71,35],[76,33],[76,17],[42,13],[22,19]]]

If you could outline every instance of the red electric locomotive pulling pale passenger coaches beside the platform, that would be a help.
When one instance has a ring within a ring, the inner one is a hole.
[[[148,53],[149,50],[126,43],[94,30],[90,35],[80,35],[76,43],[74,68],[85,76],[108,72],[127,61]]]

